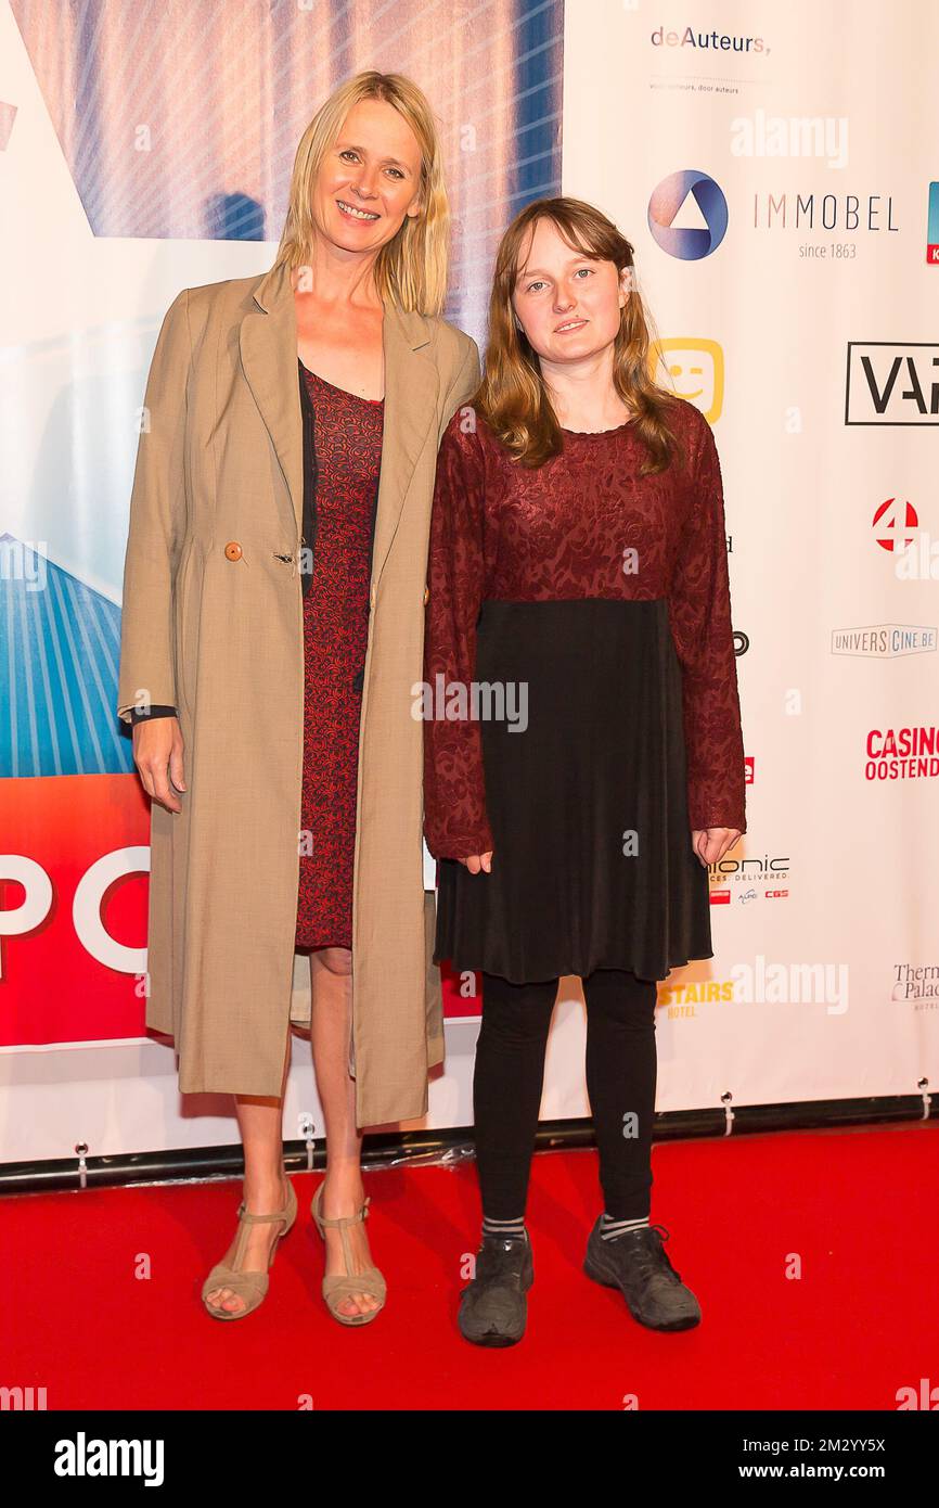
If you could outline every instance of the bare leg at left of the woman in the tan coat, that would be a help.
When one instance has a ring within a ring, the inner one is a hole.
[[[279,1099],[261,1099],[255,1095],[235,1095],[238,1129],[244,1146],[244,1206],[249,1214],[268,1215],[282,1209],[286,1200],[286,1173],[283,1172],[283,1089],[289,1063],[289,1027],[283,1054],[283,1080]],[[249,1226],[247,1249],[243,1270],[265,1271],[271,1246],[283,1228],[276,1221]],[[235,1256],[235,1240],[225,1253],[223,1262],[231,1267]],[[214,1309],[238,1313],[244,1300],[231,1288],[214,1288],[206,1294]]]

